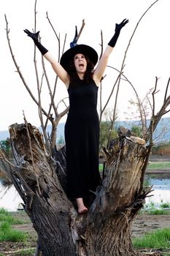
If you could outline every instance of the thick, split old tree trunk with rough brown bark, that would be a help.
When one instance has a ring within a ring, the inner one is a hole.
[[[88,213],[77,214],[66,196],[66,182],[62,183],[64,149],[63,157],[57,151],[51,157],[41,133],[31,124],[12,124],[9,133],[15,158],[11,179],[36,230],[42,255],[141,255],[131,243],[131,224],[150,192],[142,188],[146,146],[125,136],[115,140],[112,151],[106,151],[104,178],[93,202],[88,202]]]

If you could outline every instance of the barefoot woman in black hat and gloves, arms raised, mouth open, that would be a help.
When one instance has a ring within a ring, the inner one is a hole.
[[[98,86],[120,30],[126,23],[128,20],[124,19],[120,24],[116,24],[115,34],[99,61],[96,50],[88,45],[75,45],[63,53],[58,63],[39,42],[39,32],[34,34],[24,30],[28,37],[34,40],[45,59],[50,61],[69,93],[70,108],[65,125],[68,196],[76,199],[79,214],[88,211],[83,199],[90,192],[96,191],[100,181],[99,126],[96,110]]]

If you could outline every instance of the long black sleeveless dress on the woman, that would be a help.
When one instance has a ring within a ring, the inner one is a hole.
[[[98,87],[78,80],[69,86],[69,114],[65,124],[67,193],[70,198],[86,197],[96,191],[98,171],[99,123]]]

